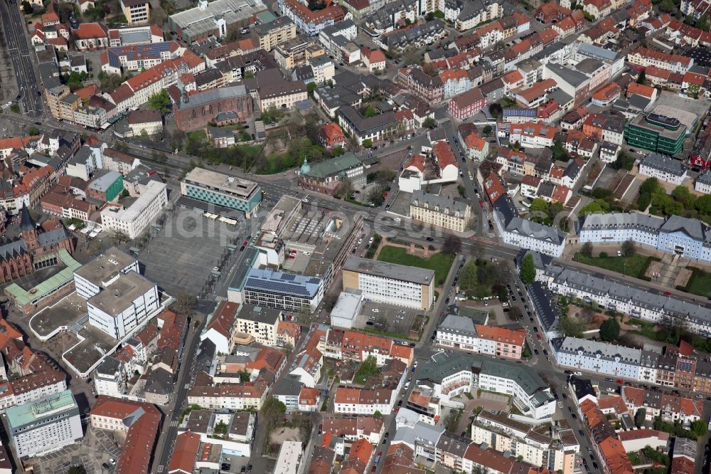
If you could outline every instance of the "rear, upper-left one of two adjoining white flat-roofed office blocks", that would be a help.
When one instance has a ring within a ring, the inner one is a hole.
[[[120,273],[134,271],[138,273],[139,266],[136,258],[112,247],[95,257],[86,265],[82,265],[74,272],[74,284],[77,295],[85,300],[96,295],[101,290],[111,285]]]

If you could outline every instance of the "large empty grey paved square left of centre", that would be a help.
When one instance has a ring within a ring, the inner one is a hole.
[[[186,288],[194,293],[209,292],[210,271],[223,270],[230,251],[238,243],[236,226],[206,218],[200,211],[176,209],[164,228],[139,253],[141,270],[159,288],[177,295]]]

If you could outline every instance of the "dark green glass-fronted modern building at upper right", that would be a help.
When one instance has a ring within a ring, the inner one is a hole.
[[[685,136],[682,122],[656,113],[638,115],[624,127],[624,139],[631,147],[668,155],[681,152]]]

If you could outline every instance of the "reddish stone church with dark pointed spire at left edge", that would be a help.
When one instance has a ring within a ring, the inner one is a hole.
[[[57,265],[60,248],[74,252],[72,236],[59,221],[50,219],[38,228],[27,206],[21,213],[21,237],[0,244],[0,284]]]

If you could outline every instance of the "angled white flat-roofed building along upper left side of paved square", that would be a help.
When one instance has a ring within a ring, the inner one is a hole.
[[[107,206],[101,211],[102,226],[130,239],[137,238],[168,204],[167,187],[160,181],[149,181],[144,192],[127,208]]]

